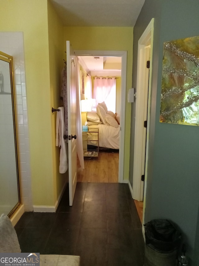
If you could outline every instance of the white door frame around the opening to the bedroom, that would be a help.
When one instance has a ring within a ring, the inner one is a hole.
[[[120,99],[120,138],[119,138],[119,169],[118,182],[124,182],[124,133],[127,84],[127,51],[74,50],[76,56],[114,56],[122,58],[121,99]]]

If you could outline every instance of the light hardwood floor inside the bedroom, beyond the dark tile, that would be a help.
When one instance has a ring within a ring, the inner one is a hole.
[[[85,169],[77,175],[78,182],[117,183],[119,152],[99,152],[99,157],[84,159]]]

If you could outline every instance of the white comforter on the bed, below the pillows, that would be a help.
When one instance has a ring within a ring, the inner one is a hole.
[[[99,147],[119,149],[120,125],[115,128],[110,125],[99,124],[89,126],[88,128],[99,128]],[[92,145],[96,145],[96,142],[92,143]]]

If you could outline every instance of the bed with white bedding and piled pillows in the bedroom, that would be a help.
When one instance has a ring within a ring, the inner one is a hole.
[[[119,114],[107,110],[105,103],[96,107],[96,112],[87,113],[88,131],[91,128],[99,128],[99,147],[108,149],[119,149],[120,123]],[[92,140],[92,134],[88,136]],[[95,141],[90,144],[96,146]]]

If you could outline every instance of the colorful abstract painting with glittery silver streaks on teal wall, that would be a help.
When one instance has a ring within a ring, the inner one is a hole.
[[[164,43],[160,122],[199,126],[199,36]]]

